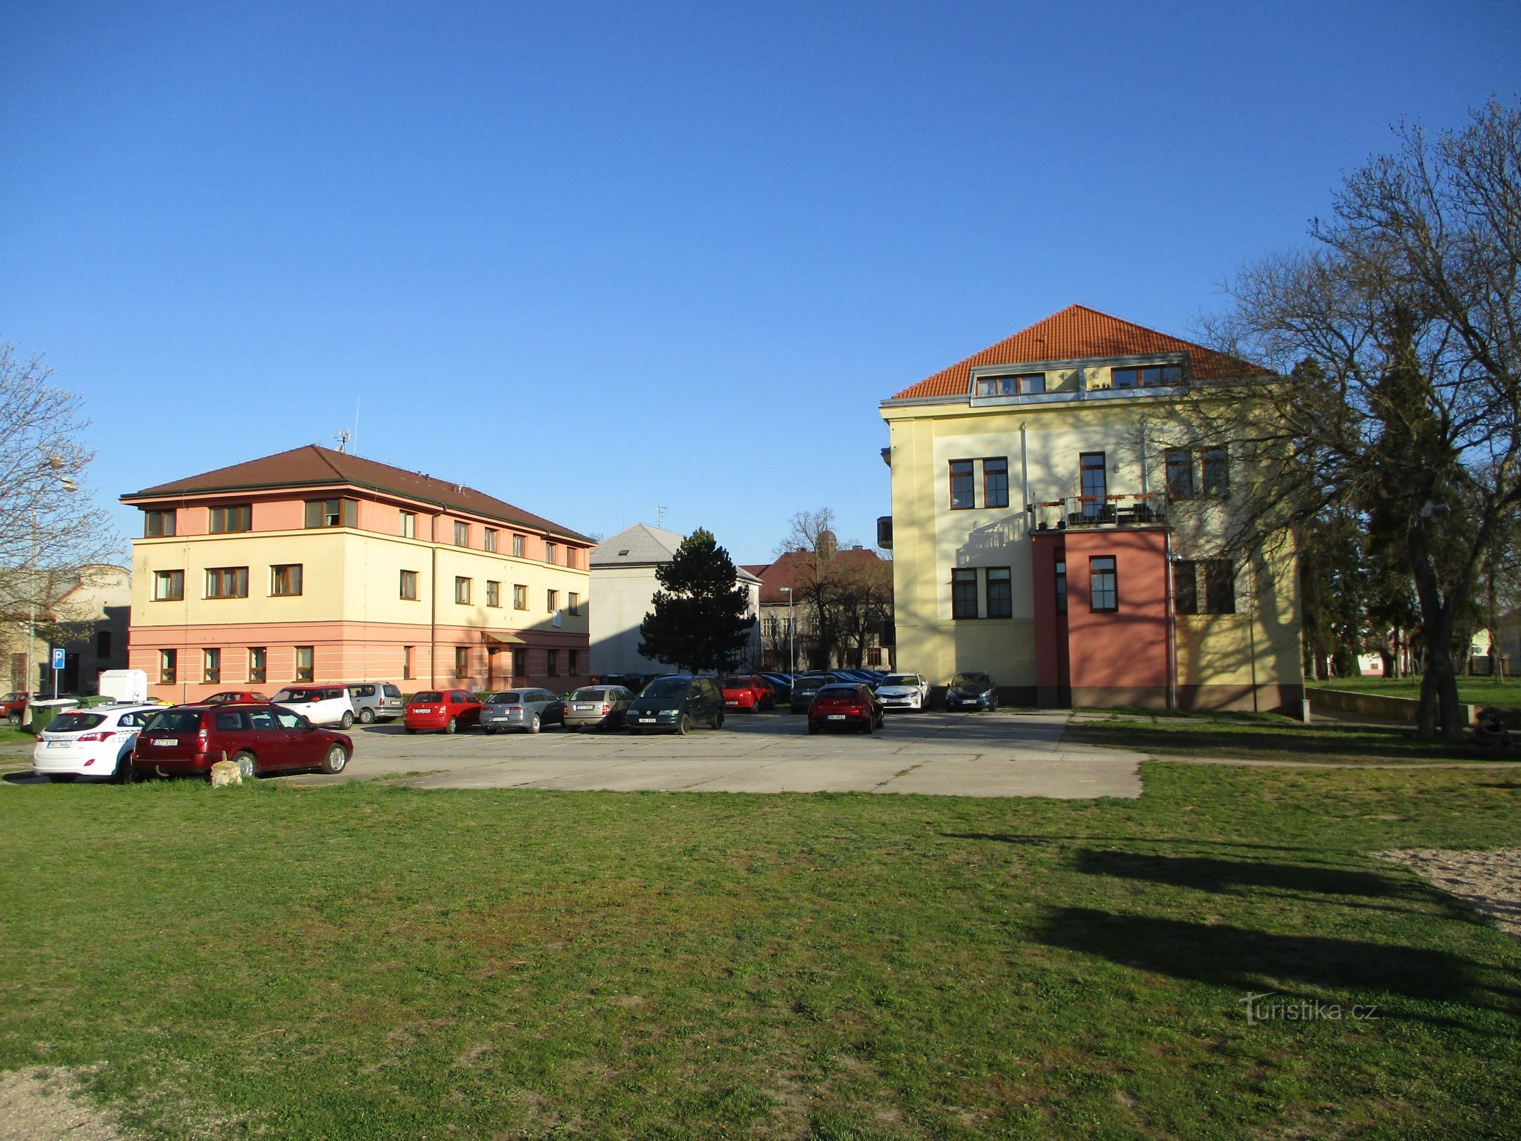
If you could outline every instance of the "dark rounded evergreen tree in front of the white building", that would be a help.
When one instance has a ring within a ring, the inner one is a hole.
[[[639,624],[639,653],[678,669],[733,669],[756,619],[750,593],[735,583],[735,563],[710,531],[698,528],[656,570],[654,610]]]

